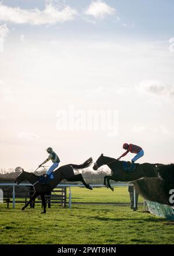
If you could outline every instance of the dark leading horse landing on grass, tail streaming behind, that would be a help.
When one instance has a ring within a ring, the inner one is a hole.
[[[81,173],[78,175],[74,174],[74,169],[84,169],[91,165],[92,158],[89,158],[81,165],[74,165],[72,163],[68,165],[63,165],[60,168],[56,169],[55,172],[53,172],[54,179],[49,180],[48,184],[43,185],[40,181],[40,177],[38,175],[35,175],[35,173],[29,173],[22,170],[20,175],[14,180],[15,183],[20,184],[24,180],[27,180],[34,186],[34,194],[30,198],[30,200],[27,202],[26,205],[24,205],[21,210],[23,211],[28,207],[30,202],[34,201],[35,198],[37,198],[38,195],[41,195],[42,204],[44,207],[44,212],[41,212],[41,214],[46,214],[46,203],[45,203],[45,194],[50,193],[57,184],[61,182],[61,180],[66,179],[68,182],[82,182],[86,189],[92,190],[92,187],[90,187],[89,184],[86,184],[84,178],[82,177]]]

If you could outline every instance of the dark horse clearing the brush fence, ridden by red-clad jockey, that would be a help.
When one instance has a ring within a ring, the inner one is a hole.
[[[123,162],[124,161],[119,161],[115,158],[105,157],[102,154],[94,163],[93,170],[97,170],[102,165],[107,165],[111,169],[111,176],[104,176],[104,185],[109,187],[112,191],[114,191],[114,189],[110,185],[110,180],[114,180],[115,182],[131,182],[141,177],[158,177],[159,163],[135,163],[135,170],[133,170],[133,172],[126,172],[123,169]]]

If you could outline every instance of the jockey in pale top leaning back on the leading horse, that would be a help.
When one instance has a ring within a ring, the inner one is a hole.
[[[59,159],[58,155],[56,155],[56,153],[53,151],[52,148],[49,147],[49,148],[47,148],[46,151],[48,152],[49,156],[43,163],[41,163],[41,165],[44,165],[44,163],[48,162],[49,160],[51,160],[53,162],[53,165],[50,166],[50,168],[46,171],[45,183],[47,182],[50,173],[52,173],[53,170],[55,170],[59,166],[59,163],[60,163],[60,159]],[[39,167],[41,167],[41,165],[39,165]]]

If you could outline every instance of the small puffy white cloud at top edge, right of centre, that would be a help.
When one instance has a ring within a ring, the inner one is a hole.
[[[115,13],[115,9],[111,6],[107,5],[102,1],[93,1],[90,3],[88,8],[84,12],[86,15],[92,15],[95,18],[104,17],[106,15],[113,15]]]

